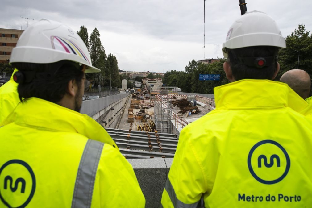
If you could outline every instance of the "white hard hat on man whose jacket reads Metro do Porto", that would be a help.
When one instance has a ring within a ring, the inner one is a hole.
[[[223,55],[227,58],[226,48],[249,46],[285,48],[286,42],[276,22],[270,16],[263,12],[252,11],[242,15],[230,27],[222,46]]]

